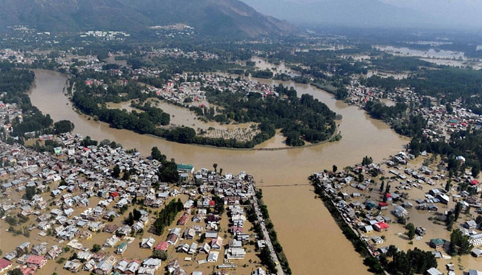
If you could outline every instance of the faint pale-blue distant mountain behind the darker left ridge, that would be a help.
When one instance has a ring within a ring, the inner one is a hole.
[[[295,23],[407,27],[438,25],[435,14],[390,0],[242,0],[256,10]],[[440,0],[442,1],[442,0]]]

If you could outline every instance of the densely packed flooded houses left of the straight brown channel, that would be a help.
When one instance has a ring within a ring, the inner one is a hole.
[[[0,144],[2,240],[11,247],[2,272],[268,274],[256,256],[263,248],[278,264],[269,234],[253,232],[264,219],[247,173],[178,164],[180,181],[167,184],[158,160],[115,142],[87,145],[71,133],[39,140],[59,146]]]

